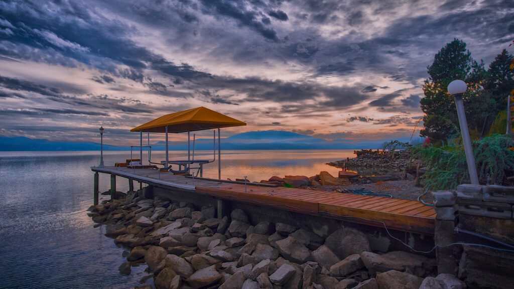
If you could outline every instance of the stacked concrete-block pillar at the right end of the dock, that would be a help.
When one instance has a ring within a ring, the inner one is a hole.
[[[437,258],[437,274],[455,275],[457,260],[453,256],[453,247],[446,246],[455,242],[455,194],[451,191],[437,191],[435,197],[435,232],[434,241]]]

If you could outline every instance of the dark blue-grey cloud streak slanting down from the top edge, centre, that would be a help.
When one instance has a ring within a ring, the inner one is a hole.
[[[247,10],[244,2],[228,2],[223,0],[201,0],[205,7],[205,13],[219,14],[236,20],[241,25],[259,32],[264,38],[271,41],[279,41],[277,32],[266,28],[262,22],[258,21],[259,13]]]

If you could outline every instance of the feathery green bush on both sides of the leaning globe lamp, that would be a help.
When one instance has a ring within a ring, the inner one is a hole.
[[[509,150],[512,139],[507,135],[492,135],[472,143],[475,164],[481,183],[502,185],[512,175],[514,152]],[[462,145],[416,145],[411,148],[413,156],[421,159],[427,167],[421,184],[431,190],[455,189],[469,179],[466,154]]]

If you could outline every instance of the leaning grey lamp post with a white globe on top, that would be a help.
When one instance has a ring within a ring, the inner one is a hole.
[[[448,93],[455,98],[455,106],[457,108],[458,123],[461,126],[462,142],[464,143],[464,151],[466,152],[466,160],[468,163],[469,178],[471,185],[479,184],[479,177],[476,174],[475,158],[473,156],[473,148],[471,147],[471,140],[469,138],[468,122],[466,121],[466,114],[464,112],[464,103],[462,95],[466,92],[468,86],[462,80],[454,80],[448,85]]]

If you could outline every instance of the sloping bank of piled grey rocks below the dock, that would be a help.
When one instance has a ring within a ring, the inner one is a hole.
[[[153,278],[157,289],[466,288],[452,275],[435,276],[435,259],[372,252],[354,228],[319,236],[285,223],[253,224],[241,209],[215,218],[214,207],[147,199],[144,190],[88,210],[107,225],[107,237],[130,249],[120,273],[144,263],[149,275],[141,283]]]

